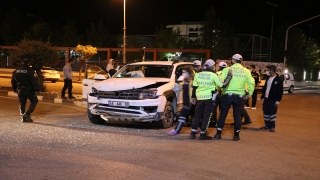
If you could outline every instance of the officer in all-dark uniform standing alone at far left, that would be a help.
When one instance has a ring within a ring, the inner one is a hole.
[[[18,94],[22,122],[33,122],[30,115],[38,103],[36,92],[39,91],[39,84],[37,73],[29,66],[28,59],[23,59],[22,67],[13,71],[11,85],[13,91]],[[30,101],[30,106],[26,111],[27,99]]]

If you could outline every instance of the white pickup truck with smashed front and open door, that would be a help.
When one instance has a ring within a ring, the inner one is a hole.
[[[153,122],[160,128],[172,126],[181,86],[177,78],[191,62],[138,62],[125,65],[112,78],[96,64],[87,64],[83,98],[88,119],[94,124],[109,121]]]

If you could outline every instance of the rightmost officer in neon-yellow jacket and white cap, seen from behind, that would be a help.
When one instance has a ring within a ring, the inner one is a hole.
[[[221,112],[217,124],[217,133],[214,138],[221,139],[221,132],[224,126],[229,109],[233,107],[234,117],[234,135],[233,140],[240,140],[241,129],[241,111],[243,110],[243,97],[245,96],[245,86],[248,84],[249,95],[252,95],[254,90],[254,79],[251,76],[250,71],[241,65],[242,56],[235,54],[232,56],[232,66],[222,70],[221,78],[225,78],[228,75],[228,71],[232,70],[232,79],[229,85],[222,90]]]

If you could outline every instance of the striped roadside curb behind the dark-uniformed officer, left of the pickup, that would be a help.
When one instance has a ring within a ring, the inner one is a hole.
[[[16,93],[14,93],[13,91],[1,91],[0,95],[4,95],[4,96],[7,95],[8,97],[18,98],[18,95]],[[38,95],[37,97],[38,97],[38,101],[41,101],[41,102],[71,105],[71,106],[77,106],[77,107],[82,107],[82,108],[87,108],[87,106],[88,106],[86,101],[53,98],[53,97],[46,97],[46,96],[41,96],[41,95]]]

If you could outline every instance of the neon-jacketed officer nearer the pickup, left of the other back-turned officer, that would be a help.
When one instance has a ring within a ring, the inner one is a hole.
[[[202,119],[200,140],[212,139],[207,135],[208,124],[212,110],[215,108],[215,98],[217,96],[216,86],[225,87],[232,77],[231,74],[226,76],[226,81],[221,83],[217,74],[214,73],[215,62],[212,59],[208,59],[205,63],[205,69],[195,75],[193,81],[193,91],[191,101],[194,103],[197,98],[196,110],[194,121],[192,122],[192,129],[190,139],[195,139],[197,134],[197,128]]]

